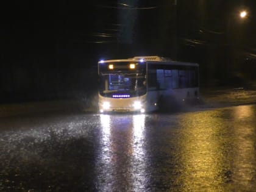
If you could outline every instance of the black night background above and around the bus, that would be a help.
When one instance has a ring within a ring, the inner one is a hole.
[[[0,101],[88,96],[98,60],[135,55],[199,63],[202,87],[249,86],[255,10],[253,0],[2,2]]]

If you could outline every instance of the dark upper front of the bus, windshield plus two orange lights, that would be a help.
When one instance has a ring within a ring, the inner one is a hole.
[[[146,94],[146,63],[120,61],[99,63],[99,93],[105,97],[116,94],[129,97]]]

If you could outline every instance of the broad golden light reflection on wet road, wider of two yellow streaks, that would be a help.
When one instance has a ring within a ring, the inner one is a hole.
[[[218,112],[187,113],[180,121],[182,191],[225,191],[219,183],[228,168],[223,167],[224,141],[219,135],[222,119],[216,115]]]

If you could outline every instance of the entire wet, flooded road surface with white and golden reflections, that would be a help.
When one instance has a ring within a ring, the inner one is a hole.
[[[2,118],[0,191],[255,191],[256,105]]]

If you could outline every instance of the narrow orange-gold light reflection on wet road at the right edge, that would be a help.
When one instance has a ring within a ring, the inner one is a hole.
[[[244,190],[250,190],[255,181],[255,111],[253,105],[234,108],[233,179]],[[239,154],[239,155],[238,155]]]

